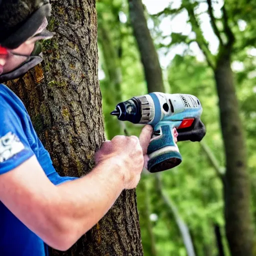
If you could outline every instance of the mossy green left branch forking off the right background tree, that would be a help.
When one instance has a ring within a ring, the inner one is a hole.
[[[202,35],[202,31],[200,29],[200,26],[196,20],[195,14],[194,14],[193,5],[186,4],[185,8],[189,15],[192,30],[195,32],[195,35],[196,35],[196,42],[197,42],[199,48],[201,49],[201,51],[203,52],[208,65],[212,69],[214,69],[215,68],[215,57],[211,54],[211,52],[208,48],[208,43]]]

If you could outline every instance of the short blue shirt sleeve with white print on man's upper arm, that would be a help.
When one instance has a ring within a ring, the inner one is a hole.
[[[0,102],[0,174],[14,169],[33,154],[19,116],[10,105]]]

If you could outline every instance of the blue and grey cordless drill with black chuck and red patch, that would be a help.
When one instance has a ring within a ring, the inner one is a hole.
[[[174,141],[173,128],[178,132],[177,141],[200,141],[203,138],[206,130],[200,120],[201,113],[202,106],[197,97],[161,92],[132,97],[117,104],[111,112],[121,121],[152,125],[153,134],[147,149],[150,172],[180,164],[182,158]]]

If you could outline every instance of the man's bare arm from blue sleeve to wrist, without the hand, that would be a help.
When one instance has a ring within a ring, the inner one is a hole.
[[[53,185],[36,157],[0,176],[0,200],[42,240],[66,250],[111,207],[123,177],[113,162],[77,180]]]

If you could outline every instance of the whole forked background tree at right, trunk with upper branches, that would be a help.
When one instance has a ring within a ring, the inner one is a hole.
[[[214,17],[212,2],[207,0],[207,13],[212,29],[219,40],[218,53],[213,55],[210,52],[208,42],[202,34],[198,16],[195,14],[198,5],[199,2],[191,3],[189,0],[183,0],[178,9],[172,9],[169,13],[180,11],[183,8],[187,11],[189,22],[195,33],[194,40],[213,70],[219,99],[220,123],[225,149],[226,171],[223,176],[223,191],[226,235],[232,255],[252,255],[253,224],[249,207],[250,184],[247,172],[245,137],[231,69],[235,34],[230,24],[235,19],[229,18],[231,11],[226,9],[226,3],[223,4],[221,8],[222,16],[219,19],[221,28],[219,28],[220,25],[218,27]],[[177,38],[181,41],[187,40],[185,36]],[[172,43],[175,43],[175,41]]]

